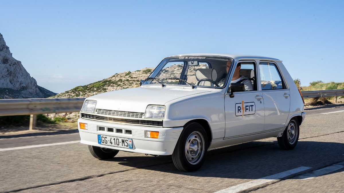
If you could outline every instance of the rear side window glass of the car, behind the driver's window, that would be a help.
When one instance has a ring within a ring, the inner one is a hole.
[[[276,64],[259,63],[261,90],[283,89],[283,81]]]

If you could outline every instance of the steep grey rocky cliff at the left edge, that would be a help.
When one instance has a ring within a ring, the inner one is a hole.
[[[55,94],[37,85],[21,62],[12,57],[0,33],[0,99],[47,98]]]

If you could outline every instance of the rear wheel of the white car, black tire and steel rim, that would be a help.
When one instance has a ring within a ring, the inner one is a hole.
[[[296,118],[292,118],[281,137],[277,137],[278,145],[284,150],[294,149],[300,135],[300,124]]]

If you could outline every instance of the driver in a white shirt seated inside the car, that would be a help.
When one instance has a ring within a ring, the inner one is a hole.
[[[229,71],[229,68],[230,68],[230,65],[231,65],[231,61],[227,61],[227,64],[226,64],[226,70],[227,70],[227,73]],[[234,71],[234,74],[233,74],[233,77],[232,77],[232,80],[230,81],[230,83],[236,83],[236,82],[239,82],[240,83],[244,83],[244,86],[245,86],[245,91],[250,91],[250,90],[253,90],[253,86],[252,86],[252,83],[251,81],[247,78],[247,77],[244,77],[244,76],[241,76],[240,75],[240,69],[241,69],[241,64],[239,63],[236,68],[235,68],[235,71]],[[241,81],[242,80],[242,81]],[[221,79],[219,82],[218,82],[218,85],[220,87],[223,86],[223,84],[225,83],[226,81],[226,78],[223,78]]]

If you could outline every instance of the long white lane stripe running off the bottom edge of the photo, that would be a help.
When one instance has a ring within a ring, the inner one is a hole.
[[[292,174],[295,174],[295,173],[299,173],[301,171],[308,170],[308,169],[311,169],[311,168],[309,168],[309,167],[295,168],[295,169],[288,170],[288,171],[281,172],[281,173],[277,173],[277,174],[274,174],[274,175],[269,175],[267,177],[260,178],[260,179],[257,179],[257,180],[252,180],[252,181],[245,182],[245,183],[242,183],[242,184],[239,184],[239,185],[235,185],[235,186],[232,186],[232,187],[229,187],[229,188],[217,191],[215,193],[234,193],[234,192],[240,192],[240,191],[252,188],[254,186],[261,185],[261,184],[264,184],[264,183],[268,183],[268,182],[271,182],[271,181],[274,181],[274,180],[278,180],[278,179],[281,179],[281,178],[285,178],[285,177],[287,177],[289,175],[292,175]]]

